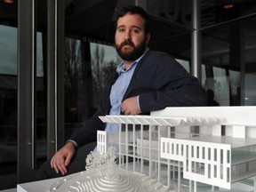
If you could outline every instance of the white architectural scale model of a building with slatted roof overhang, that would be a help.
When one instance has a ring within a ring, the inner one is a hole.
[[[256,192],[256,107],[165,108],[100,119],[119,124],[119,132],[98,132],[97,140],[101,156],[112,161],[108,148],[116,148],[114,179],[81,172],[50,191],[64,191],[65,183],[77,192]]]

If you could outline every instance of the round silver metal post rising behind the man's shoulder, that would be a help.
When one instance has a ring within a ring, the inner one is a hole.
[[[200,83],[202,83],[202,55],[201,55],[201,13],[200,1],[193,0],[192,12],[192,52],[191,52],[191,74],[196,76]]]

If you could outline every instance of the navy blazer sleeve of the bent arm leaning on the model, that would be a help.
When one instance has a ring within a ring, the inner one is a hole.
[[[166,107],[206,106],[205,92],[197,78],[189,75],[169,54],[153,52],[148,56],[148,61],[143,61],[143,65],[137,74],[146,87],[139,94],[142,113]]]

